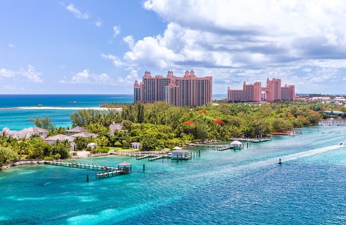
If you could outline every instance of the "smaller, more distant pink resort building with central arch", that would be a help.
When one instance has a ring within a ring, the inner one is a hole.
[[[261,82],[243,84],[243,90],[231,90],[228,87],[227,100],[231,102],[260,102],[261,100],[274,102],[276,100],[294,100],[295,86],[281,87],[281,79],[267,78],[267,86],[261,87]]]

